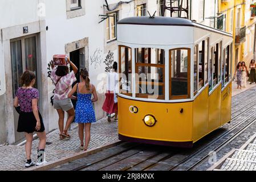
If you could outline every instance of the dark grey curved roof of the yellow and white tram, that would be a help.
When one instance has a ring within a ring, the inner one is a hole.
[[[155,16],[151,18],[150,16],[133,16],[121,19],[117,24],[140,24],[140,25],[152,25],[152,26],[190,26],[203,28],[209,31],[218,32],[219,34],[224,34],[227,36],[232,36],[231,34],[218,30],[216,28],[205,26],[204,24],[192,22],[192,20],[185,18],[174,18],[166,16]]]

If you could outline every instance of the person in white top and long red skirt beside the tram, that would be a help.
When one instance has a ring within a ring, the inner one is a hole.
[[[107,113],[108,122],[111,122],[111,114],[115,113],[115,121],[117,121],[118,106],[117,106],[117,93],[118,93],[118,73],[117,63],[113,64],[113,70],[107,76],[107,90],[105,93],[105,101],[102,109]]]

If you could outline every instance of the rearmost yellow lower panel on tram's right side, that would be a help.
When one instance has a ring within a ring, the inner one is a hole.
[[[231,120],[231,88],[230,82],[221,93],[221,125]]]

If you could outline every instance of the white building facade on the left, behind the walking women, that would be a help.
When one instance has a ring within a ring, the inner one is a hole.
[[[116,22],[128,16],[148,15],[148,11],[159,14],[159,2],[1,1],[0,144],[13,144],[24,138],[24,134],[16,131],[18,114],[13,100],[21,86],[19,77],[26,69],[36,73],[35,87],[40,93],[39,110],[46,131],[58,128],[58,114],[52,106],[54,85],[49,65],[55,54],[69,55],[79,69],[89,70],[99,97],[94,104],[96,119],[103,118],[105,73],[113,61],[117,61]],[[79,80],[79,75],[77,78]]]

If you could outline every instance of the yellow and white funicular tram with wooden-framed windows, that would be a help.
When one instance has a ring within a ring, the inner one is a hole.
[[[231,119],[233,36],[183,18],[117,23],[119,139],[192,147]]]

